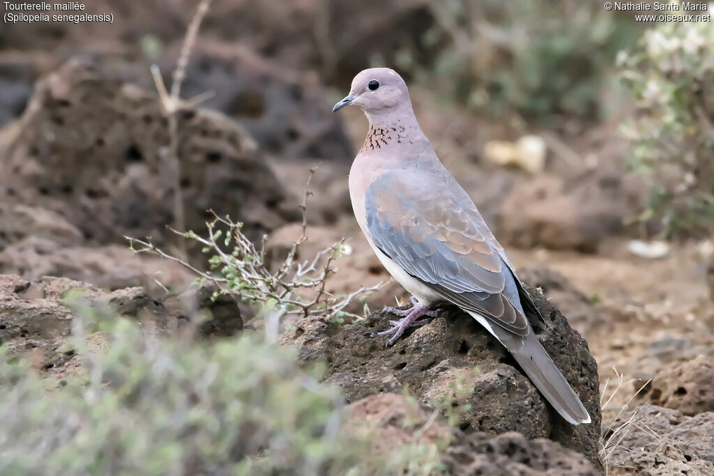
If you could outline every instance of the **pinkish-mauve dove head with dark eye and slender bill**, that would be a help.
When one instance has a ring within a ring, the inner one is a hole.
[[[351,104],[359,106],[368,117],[381,116],[405,106],[411,109],[406,83],[389,68],[365,69],[357,74],[348,96],[336,103],[332,111]]]

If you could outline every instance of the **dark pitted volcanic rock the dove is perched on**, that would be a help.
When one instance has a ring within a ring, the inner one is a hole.
[[[565,316],[537,291],[531,295],[547,324],[539,338],[588,408],[589,425],[565,422],[498,340],[456,308],[443,308],[438,318],[408,330],[390,348],[384,347],[385,338],[367,335],[388,328],[393,317],[381,312],[343,327],[318,318],[298,320],[283,342],[296,343],[305,362],[326,361],[324,380],[342,388],[350,402],[407,388],[426,405],[451,406],[464,430],[548,437],[601,467],[597,363]]]

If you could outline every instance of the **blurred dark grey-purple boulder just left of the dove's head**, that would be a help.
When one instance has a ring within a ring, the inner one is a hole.
[[[159,60],[165,81],[171,81],[182,44],[174,44]],[[326,87],[314,74],[277,66],[235,41],[199,40],[191,51],[183,93],[192,97],[206,91],[214,94],[202,106],[241,123],[261,151],[292,161],[354,157]]]

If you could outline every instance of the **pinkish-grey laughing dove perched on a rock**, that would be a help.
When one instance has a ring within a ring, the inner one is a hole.
[[[448,301],[481,323],[508,349],[540,393],[568,422],[590,415],[550,355],[532,322],[545,324],[506,253],[478,209],[441,164],[421,131],[406,83],[395,71],[366,69],[333,111],[359,106],[369,133],[350,171],[355,217],[374,253],[413,295],[391,321],[392,345],[428,322],[429,306]],[[397,311],[397,312],[395,312]]]

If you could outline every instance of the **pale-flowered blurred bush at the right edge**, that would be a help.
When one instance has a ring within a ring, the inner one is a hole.
[[[710,7],[714,8],[714,6]],[[645,31],[638,48],[618,57],[638,112],[623,126],[631,165],[649,174],[643,219],[667,236],[714,226],[714,23],[680,21]]]

